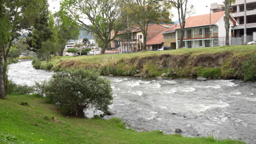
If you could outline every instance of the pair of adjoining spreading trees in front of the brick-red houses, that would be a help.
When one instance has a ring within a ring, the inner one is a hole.
[[[149,23],[170,21],[170,7],[165,0],[63,0],[61,13],[94,33],[102,41],[101,53],[104,53],[118,32],[135,25],[141,29],[146,50]],[[111,32],[114,37],[110,37]]]

